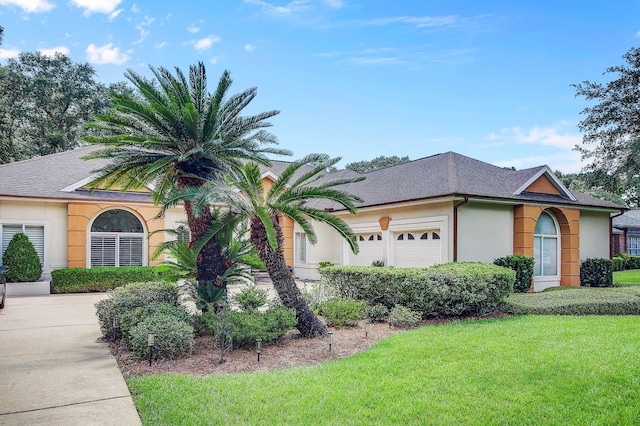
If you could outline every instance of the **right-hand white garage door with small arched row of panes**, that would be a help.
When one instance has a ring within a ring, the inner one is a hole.
[[[440,263],[440,231],[437,229],[396,232],[393,260],[396,268],[416,268]]]

